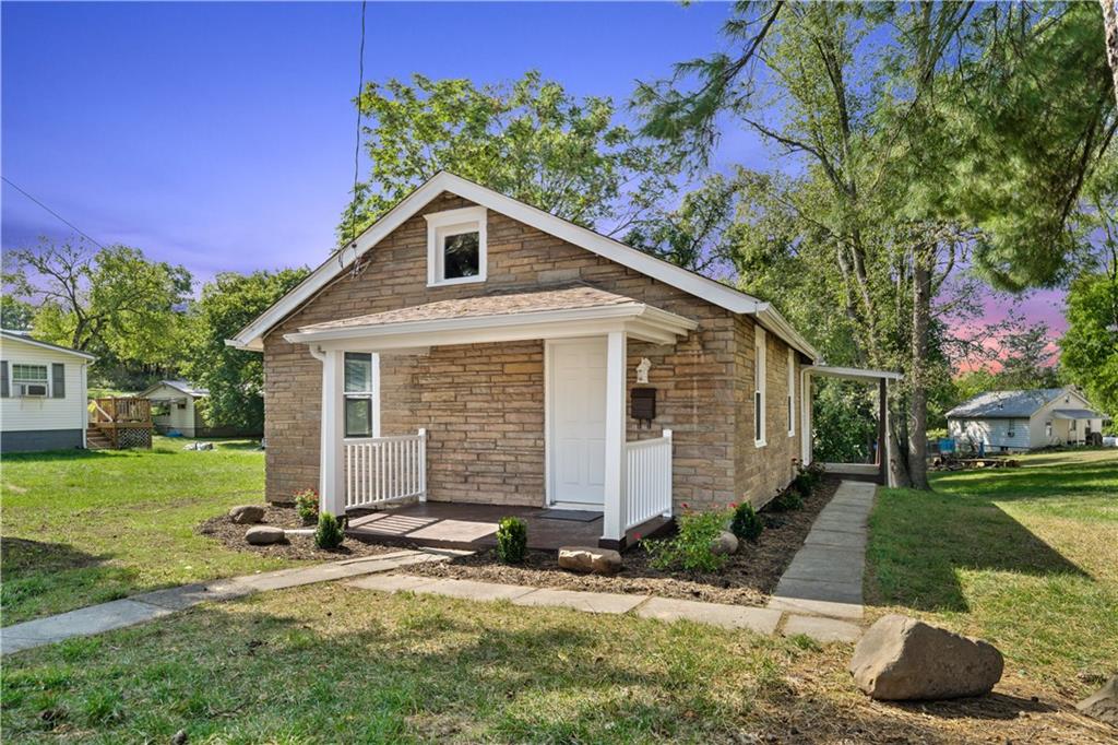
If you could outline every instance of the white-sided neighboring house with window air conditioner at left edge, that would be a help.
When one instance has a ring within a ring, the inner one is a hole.
[[[22,331],[0,331],[0,452],[85,447],[86,368],[94,359]]]

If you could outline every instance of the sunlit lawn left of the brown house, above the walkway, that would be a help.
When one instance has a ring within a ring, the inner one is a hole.
[[[250,441],[183,451],[56,452],[3,459],[4,625],[146,590],[283,566],[195,532],[260,502],[264,454]]]

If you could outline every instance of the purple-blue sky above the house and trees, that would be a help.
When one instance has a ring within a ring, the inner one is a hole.
[[[199,280],[318,264],[352,179],[360,6],[11,3],[2,13],[2,172],[101,243]],[[729,7],[370,3],[366,79],[508,81],[537,68],[577,95],[720,45]],[[773,155],[731,130],[716,167]],[[362,173],[363,177],[363,173]],[[70,230],[4,185],[2,245]],[[1004,314],[992,301],[989,315]],[[1063,328],[1062,293],[1018,307]]]

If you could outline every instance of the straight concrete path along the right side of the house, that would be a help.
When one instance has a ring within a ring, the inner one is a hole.
[[[862,635],[865,541],[877,487],[843,481],[777,584],[769,609],[789,613],[784,633],[823,641]]]

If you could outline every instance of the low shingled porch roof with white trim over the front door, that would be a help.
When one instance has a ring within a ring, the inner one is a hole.
[[[698,327],[689,318],[633,298],[576,284],[439,300],[305,326],[284,338],[377,350],[625,330],[636,339],[670,343]]]

